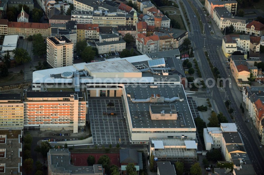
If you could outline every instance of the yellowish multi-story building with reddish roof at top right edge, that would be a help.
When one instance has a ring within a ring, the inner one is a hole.
[[[235,16],[237,13],[237,1],[211,1],[205,0],[205,8],[213,17],[215,7],[225,7],[228,12],[232,13],[232,16]]]

